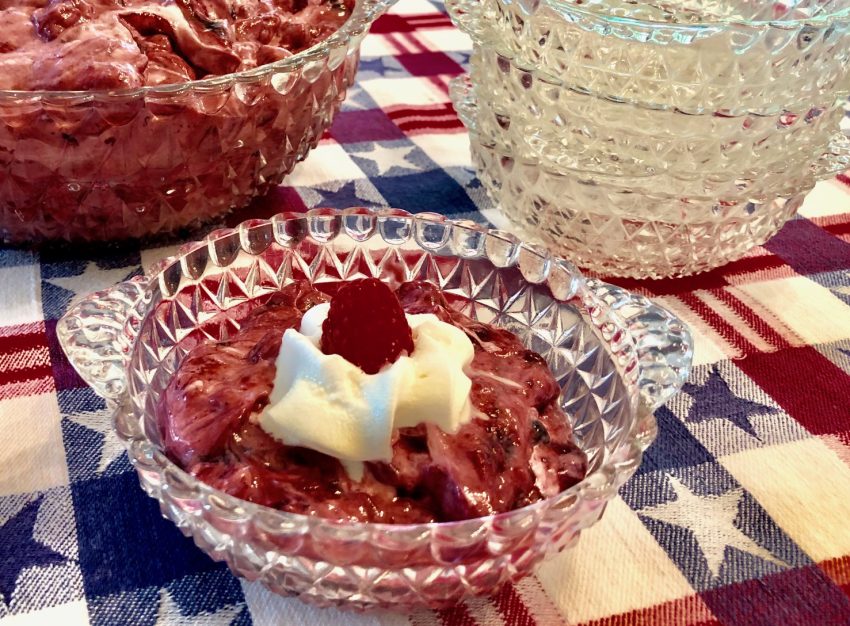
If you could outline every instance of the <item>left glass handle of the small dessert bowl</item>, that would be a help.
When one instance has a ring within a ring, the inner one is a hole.
[[[56,325],[59,345],[80,377],[107,400],[127,389],[127,364],[149,279],[137,276],[77,302]]]

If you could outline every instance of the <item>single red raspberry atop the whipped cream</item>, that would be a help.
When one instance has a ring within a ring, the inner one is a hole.
[[[392,290],[376,278],[343,285],[322,325],[322,352],[376,374],[405,351],[413,352],[413,335]]]

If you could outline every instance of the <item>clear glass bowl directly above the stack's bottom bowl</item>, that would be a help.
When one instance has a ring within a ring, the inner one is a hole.
[[[799,188],[809,165],[840,139],[844,117],[837,100],[773,115],[638,107],[552,84],[485,46],[473,50],[469,79],[479,134],[510,144],[517,156],[622,176],[667,173],[669,193],[723,199],[740,195],[742,181],[750,195]],[[709,180],[726,184],[698,188]]]

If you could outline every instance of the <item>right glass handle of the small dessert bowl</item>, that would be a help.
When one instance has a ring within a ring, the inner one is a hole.
[[[588,279],[587,288],[626,329],[637,357],[636,384],[654,411],[681,389],[691,371],[694,344],[685,323],[649,298]]]

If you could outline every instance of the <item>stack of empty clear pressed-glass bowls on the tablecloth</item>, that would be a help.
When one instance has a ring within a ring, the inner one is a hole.
[[[633,277],[764,243],[850,166],[850,1],[449,0],[452,98],[522,234]]]

